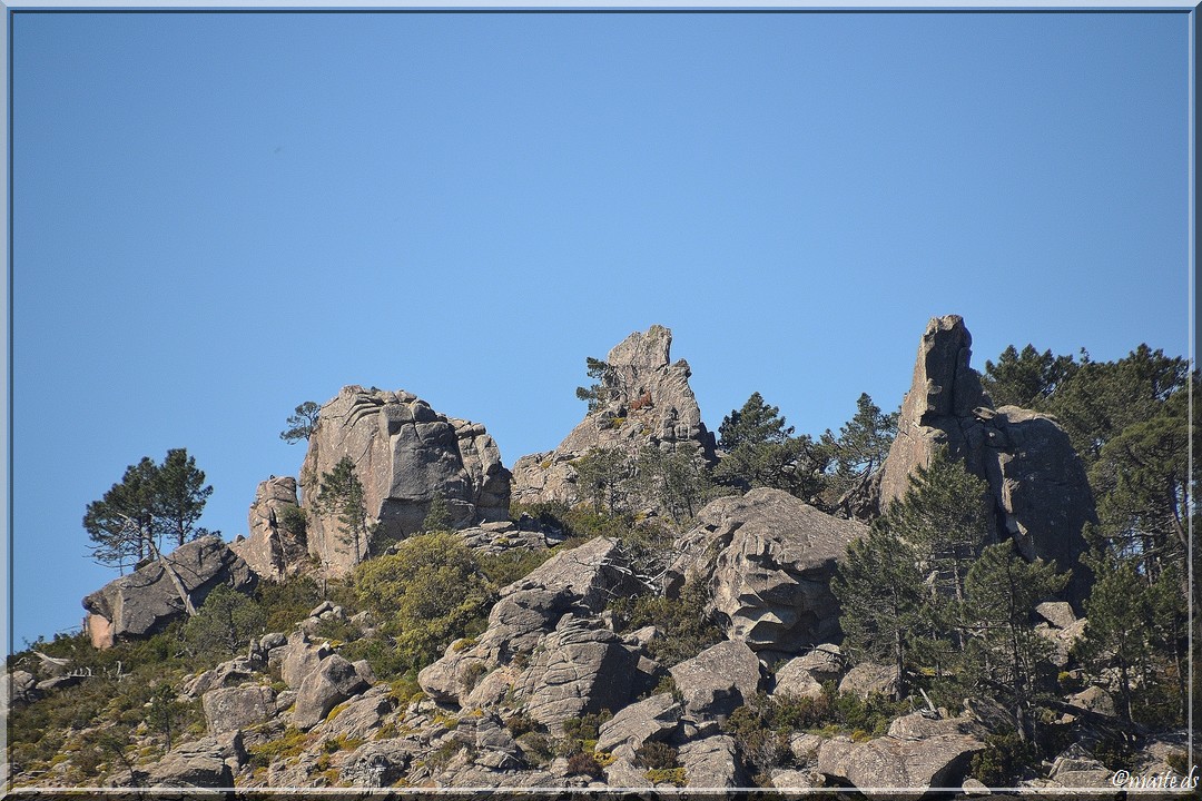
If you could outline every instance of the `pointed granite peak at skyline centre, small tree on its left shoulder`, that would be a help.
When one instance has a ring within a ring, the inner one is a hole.
[[[513,466],[513,500],[576,503],[571,462],[593,449],[636,454],[644,446],[714,460],[714,435],[701,422],[684,359],[671,360],[672,331],[651,325],[609,351],[606,397],[551,452],[523,456]]]

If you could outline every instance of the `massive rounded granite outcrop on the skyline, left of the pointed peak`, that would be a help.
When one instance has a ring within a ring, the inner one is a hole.
[[[347,542],[337,515],[315,509],[321,477],[344,456],[355,464],[368,516],[385,537],[417,531],[440,496],[457,528],[508,518],[510,472],[483,425],[440,414],[404,390],[344,387],[321,407],[300,467],[309,551],[328,575],[346,573],[368,548]]]

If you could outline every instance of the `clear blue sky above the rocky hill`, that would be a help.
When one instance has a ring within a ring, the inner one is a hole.
[[[673,329],[716,429],[974,363],[1189,349],[1182,13],[55,13],[12,25],[13,644],[117,576],[84,507],[188,448],[202,524],[304,400],[407,389],[512,465]]]

